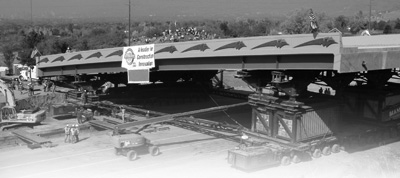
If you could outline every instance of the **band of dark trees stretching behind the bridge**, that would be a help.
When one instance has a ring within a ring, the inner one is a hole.
[[[329,17],[315,13],[320,32],[336,28],[344,35],[355,35],[368,28],[368,18],[361,11],[354,16]],[[121,47],[128,45],[127,23],[62,23],[20,24],[0,22],[0,52],[6,65],[13,60],[34,65],[31,52],[37,48],[42,55],[72,51]],[[400,32],[400,19],[373,21],[372,34]],[[310,33],[309,10],[301,9],[285,18],[236,19],[233,21],[203,20],[187,22],[132,22],[131,45],[179,42],[216,38]]]

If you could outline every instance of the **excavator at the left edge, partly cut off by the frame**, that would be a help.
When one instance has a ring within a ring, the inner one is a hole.
[[[38,124],[46,119],[46,111],[40,108],[21,110],[17,113],[14,93],[1,81],[0,92],[6,101],[6,105],[0,110],[0,131],[20,124]]]

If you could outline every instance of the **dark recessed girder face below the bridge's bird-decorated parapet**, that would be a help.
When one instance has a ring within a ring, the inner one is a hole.
[[[331,70],[332,54],[244,56],[164,59],[156,61],[155,71],[198,70]],[[80,64],[39,69],[40,76],[95,75],[98,73],[126,72],[121,62]],[[151,74],[152,75],[152,74]]]

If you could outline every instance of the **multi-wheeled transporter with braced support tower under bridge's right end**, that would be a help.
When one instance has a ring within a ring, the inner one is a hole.
[[[396,87],[375,92],[357,88],[356,93],[348,89],[341,96],[314,94],[297,100],[252,94],[252,126],[243,130],[248,138],[228,151],[228,163],[252,171],[397,141],[399,103]],[[264,144],[254,145],[254,140]]]

